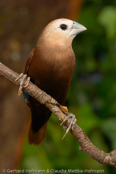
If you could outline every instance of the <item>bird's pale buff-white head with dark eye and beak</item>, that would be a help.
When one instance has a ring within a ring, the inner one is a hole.
[[[43,30],[41,38],[55,45],[71,44],[74,37],[87,30],[83,25],[65,18],[50,22]]]

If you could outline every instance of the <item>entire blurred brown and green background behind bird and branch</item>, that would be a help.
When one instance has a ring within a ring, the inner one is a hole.
[[[0,0],[0,61],[21,73],[42,29],[66,17],[87,27],[73,42],[76,68],[66,105],[94,145],[116,149],[116,1]],[[52,115],[44,141],[29,145],[30,112],[18,88],[0,76],[0,170],[93,169],[115,173],[84,152]]]

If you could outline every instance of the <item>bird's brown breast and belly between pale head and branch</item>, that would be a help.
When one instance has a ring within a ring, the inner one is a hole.
[[[46,50],[45,50],[46,51]],[[47,58],[49,57],[49,58]],[[36,47],[28,76],[42,90],[63,104],[75,65],[74,53],[44,52]]]

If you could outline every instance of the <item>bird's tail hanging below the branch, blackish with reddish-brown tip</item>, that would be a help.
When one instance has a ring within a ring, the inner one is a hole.
[[[29,144],[38,145],[45,137],[46,127],[51,112],[43,105],[32,110],[31,126],[28,134]]]

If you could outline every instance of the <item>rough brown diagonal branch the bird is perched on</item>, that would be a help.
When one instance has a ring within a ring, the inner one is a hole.
[[[8,80],[10,80],[11,82],[13,82],[14,84],[20,84],[21,79],[15,82],[15,79],[19,76],[19,74],[12,71],[11,69],[3,65],[1,62],[0,74]],[[57,116],[58,120],[63,121],[63,119],[66,118],[67,113],[64,113],[61,110],[60,104],[33,83],[30,82],[28,87],[26,87],[24,91],[27,92],[33,98],[35,98],[38,102],[48,107],[49,110]],[[68,119],[68,121],[64,124],[69,125],[70,119]],[[105,153],[104,151],[101,151],[92,144],[90,139],[85,135],[83,130],[77,124],[73,125],[73,129],[71,129],[70,132],[80,144],[80,151],[85,152],[91,158],[103,165],[116,167],[116,149],[111,151],[110,153]]]

